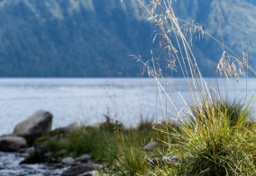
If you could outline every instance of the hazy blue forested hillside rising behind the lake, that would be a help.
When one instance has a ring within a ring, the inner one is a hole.
[[[239,56],[249,48],[256,66],[253,0],[172,3],[178,18],[196,20],[218,40],[223,33],[224,44]],[[137,0],[1,0],[0,76],[141,76],[141,65],[129,55],[158,55],[151,35],[157,27],[142,12]],[[215,76],[221,45],[205,36],[192,48],[203,74]]]

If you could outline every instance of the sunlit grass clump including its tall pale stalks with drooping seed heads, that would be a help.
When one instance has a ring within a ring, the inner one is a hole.
[[[160,55],[153,57],[152,53],[151,59],[146,62],[140,56],[133,57],[156,80],[160,96],[160,104],[156,106],[163,110],[166,120],[173,116],[182,124],[179,128],[169,124],[157,128],[160,134],[170,138],[163,141],[169,148],[165,154],[178,155],[178,163],[158,168],[152,174],[255,175],[256,136],[253,134],[256,126],[250,121],[253,98],[248,103],[237,100],[229,102],[221,98],[219,90],[212,93],[200,72],[191,44],[194,39],[204,36],[219,43],[223,53],[220,54],[216,72],[227,79],[233,77],[238,83],[241,75],[246,76],[244,70],[250,70],[255,75],[251,66],[248,66],[248,57],[244,57],[248,54],[244,52],[243,57],[238,57],[223,41],[216,40],[197,22],[178,19],[171,0],[138,2],[145,9],[143,14],[158,26],[158,30],[153,32],[153,41],[159,42]],[[165,67],[169,71],[165,71],[165,74],[160,63],[167,63]],[[183,109],[176,107],[176,100],[168,92],[167,86],[173,88],[174,85],[160,84],[160,78],[168,80],[174,71],[182,72],[191,100],[189,103],[184,101]]]

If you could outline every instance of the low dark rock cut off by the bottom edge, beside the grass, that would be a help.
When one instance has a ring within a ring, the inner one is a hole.
[[[81,175],[87,172],[96,171],[97,167],[94,165],[82,164],[70,167],[68,170],[63,172],[61,176],[74,176],[74,175]]]

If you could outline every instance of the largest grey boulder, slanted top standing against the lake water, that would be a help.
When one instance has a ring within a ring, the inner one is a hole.
[[[23,136],[27,144],[32,146],[36,138],[50,132],[51,123],[52,114],[48,111],[38,110],[15,126],[14,135]]]

